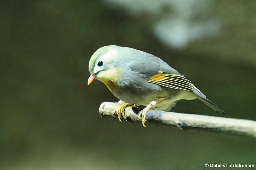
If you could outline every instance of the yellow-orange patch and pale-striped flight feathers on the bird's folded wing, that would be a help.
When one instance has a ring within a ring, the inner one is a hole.
[[[170,87],[174,89],[193,90],[194,85],[182,75],[170,74],[159,71],[158,74],[148,80],[150,83]]]

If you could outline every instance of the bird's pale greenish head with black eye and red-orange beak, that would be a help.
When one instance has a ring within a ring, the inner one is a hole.
[[[89,62],[89,72],[91,76],[88,78],[88,85],[94,79],[99,79],[103,83],[116,77],[116,67],[114,66],[114,59],[116,57],[117,46],[110,45],[97,49],[92,55]]]

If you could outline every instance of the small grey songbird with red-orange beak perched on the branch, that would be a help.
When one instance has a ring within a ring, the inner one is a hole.
[[[120,121],[125,107],[142,105],[146,107],[139,118],[146,127],[149,109],[170,110],[181,99],[199,99],[213,110],[224,113],[177,70],[140,50],[115,45],[101,47],[90,59],[89,72],[88,85],[98,79],[119,100],[126,102],[116,111]]]

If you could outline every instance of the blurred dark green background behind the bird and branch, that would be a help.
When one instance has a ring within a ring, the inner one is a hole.
[[[256,120],[256,1],[18,0],[0,5],[0,169],[207,169],[256,164],[256,139],[105,120],[118,101],[88,63],[105,45],[154,54],[220,106]],[[230,168],[231,169],[231,168]]]

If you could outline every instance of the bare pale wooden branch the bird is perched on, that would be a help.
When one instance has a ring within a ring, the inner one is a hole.
[[[116,110],[120,103],[103,102],[100,105],[100,115],[104,118],[117,118]],[[133,124],[142,124],[141,119],[133,111],[137,108],[126,107],[123,114],[124,120]],[[137,109],[138,110],[138,109]],[[141,110],[141,109],[140,109]],[[217,116],[195,115],[175,112],[149,110],[146,115],[146,126],[176,126],[180,129],[206,129],[231,132],[236,134],[256,137],[256,121],[245,119],[224,118]],[[142,126],[142,125],[141,125]]]

